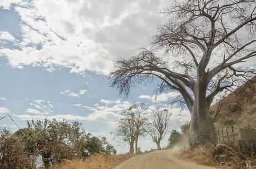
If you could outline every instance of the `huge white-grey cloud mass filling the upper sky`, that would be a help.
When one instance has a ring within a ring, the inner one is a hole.
[[[168,0],[32,0],[27,6],[22,2],[0,4],[9,8],[16,3],[22,19],[22,40],[16,44],[21,49],[0,49],[12,67],[42,66],[51,72],[60,66],[73,73],[104,74],[117,58],[130,57],[149,44],[163,19],[160,9],[169,6]]]

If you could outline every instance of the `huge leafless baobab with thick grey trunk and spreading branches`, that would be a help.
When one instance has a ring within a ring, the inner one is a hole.
[[[175,1],[163,12],[170,19],[158,28],[152,47],[115,63],[112,87],[127,96],[136,84],[159,79],[157,93],[178,91],[190,111],[190,147],[215,145],[209,113],[214,97],[255,74],[243,66],[256,56],[255,8],[254,0]]]

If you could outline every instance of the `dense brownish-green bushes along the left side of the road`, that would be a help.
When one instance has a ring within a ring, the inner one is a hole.
[[[31,121],[12,133],[0,130],[0,168],[49,168],[67,160],[93,155],[115,155],[105,137],[86,133],[81,123],[56,120]]]

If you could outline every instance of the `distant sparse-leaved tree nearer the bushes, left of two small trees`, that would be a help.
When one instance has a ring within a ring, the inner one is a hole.
[[[146,133],[147,118],[144,116],[146,108],[144,103],[133,104],[131,107],[125,108],[116,130],[111,132],[115,137],[120,137],[122,142],[129,144],[130,153],[134,153],[134,143],[135,151],[138,152],[138,138]]]

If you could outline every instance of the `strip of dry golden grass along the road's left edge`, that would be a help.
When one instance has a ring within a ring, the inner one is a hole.
[[[95,155],[85,160],[66,161],[51,169],[111,169],[134,155]]]

